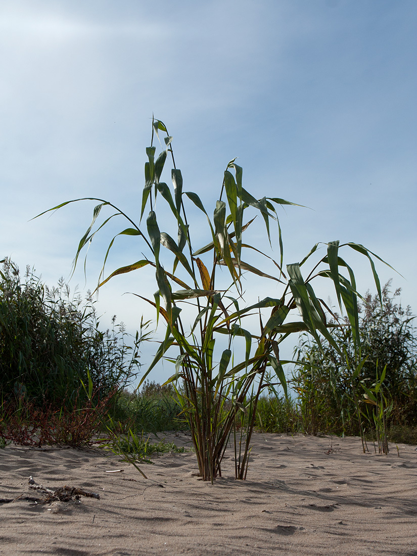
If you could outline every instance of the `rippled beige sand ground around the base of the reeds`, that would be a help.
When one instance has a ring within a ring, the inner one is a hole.
[[[212,485],[198,478],[193,453],[157,456],[141,465],[144,479],[98,448],[9,446],[0,498],[38,495],[33,476],[100,500],[0,504],[0,554],[417,555],[417,448],[398,448],[363,454],[359,438],[256,434],[247,480],[234,479],[230,451]]]

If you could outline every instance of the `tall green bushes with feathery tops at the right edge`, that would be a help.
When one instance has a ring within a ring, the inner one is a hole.
[[[389,425],[417,425],[416,329],[410,307],[404,309],[396,302],[400,290],[391,293],[390,284],[382,290],[382,304],[379,296],[369,292],[359,303],[359,354],[349,322],[337,314],[330,324],[338,325],[333,337],[339,351],[326,340],[319,346],[311,337],[301,336],[292,383],[307,433],[360,434],[355,398],[361,421],[367,425],[372,404],[365,388],[374,388],[384,369],[380,392],[392,403]],[[364,363],[355,376],[359,360]]]

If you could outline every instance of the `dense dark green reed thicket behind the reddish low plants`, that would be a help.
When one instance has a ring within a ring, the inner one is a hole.
[[[137,374],[137,333],[126,345],[123,325],[99,330],[91,298],[71,296],[63,280],[49,289],[10,260],[0,270],[0,395],[36,404],[83,401],[81,381],[96,397],[122,389]],[[146,324],[143,325],[146,327]]]

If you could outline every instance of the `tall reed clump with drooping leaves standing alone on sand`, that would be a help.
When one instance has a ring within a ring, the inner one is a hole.
[[[156,139],[161,144],[157,157],[153,145]],[[98,202],[92,222],[78,244],[75,264],[83,248],[113,216],[121,216],[128,222],[128,227],[117,236],[136,237],[147,255],[141,260],[127,261],[128,264],[106,278],[103,265],[98,288],[126,272],[145,267],[155,271],[157,291],[153,298],[141,295],[142,292],[135,295],[155,307],[156,320],[162,318],[166,330],[142,382],[162,359],[172,363],[169,381],[175,385],[182,414],[190,427],[203,480],[213,481],[221,474],[230,436],[236,430],[239,432],[242,415],[248,415],[244,434],[234,433],[236,478],[244,479],[257,404],[268,384],[270,371],[287,394],[284,362],[280,358],[281,342],[292,334],[307,331],[317,344],[321,344],[322,337],[339,352],[331,334],[334,325],[326,321],[326,304],[316,296],[312,283],[322,279],[334,287],[337,301],[349,321],[355,349],[359,349],[355,276],[342,259],[341,249],[359,252],[369,260],[380,295],[374,265],[374,258],[379,257],[359,244],[340,245],[339,241],[330,241],[324,244],[324,256],[317,256],[320,245],[317,243],[304,259],[284,268],[277,209],[295,206],[295,203],[259,195],[259,188],[256,196],[252,195],[244,187],[242,168],[234,159],[227,163],[214,206],[206,210],[197,193],[183,188],[182,174],[173,156],[172,136],[159,120],[152,120],[151,145],[146,148],[146,156],[145,187],[142,201],[138,203],[141,207],[138,214],[128,216],[110,201],[91,197],[66,201],[49,210],[81,200]],[[161,180],[169,157],[172,161],[170,186]],[[98,225],[97,219],[103,209],[115,212]],[[146,222],[141,227],[146,211]],[[197,211],[201,217],[190,220],[190,211],[192,215]],[[256,216],[265,225],[260,246],[246,240]],[[203,221],[207,222],[206,241],[196,249],[195,241],[201,237]],[[93,230],[96,222],[97,228]],[[196,229],[192,228],[192,222],[196,223]],[[167,231],[161,231],[162,223]],[[110,241],[105,264],[117,236]],[[265,252],[267,246],[275,244],[278,260]],[[259,263],[259,257],[264,257],[267,269]],[[310,263],[310,270],[305,271]],[[245,301],[245,275],[255,277],[262,296]],[[271,295],[265,295],[269,291]],[[294,311],[299,315],[297,320],[294,320]]]

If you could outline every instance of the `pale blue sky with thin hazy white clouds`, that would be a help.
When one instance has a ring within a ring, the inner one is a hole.
[[[0,258],[53,285],[68,277],[93,205],[33,216],[91,196],[138,217],[154,113],[185,188],[207,207],[238,156],[255,196],[310,207],[280,214],[287,263],[317,241],[359,242],[404,276],[377,266],[416,311],[416,30],[415,0],[2,0]],[[94,289],[122,226],[93,243],[87,284],[80,269],[72,287]],[[141,249],[117,242],[108,270]],[[365,261],[349,260],[372,288]],[[152,313],[122,294],[154,290],[146,273],[110,282],[103,326],[117,314],[135,330]]]

